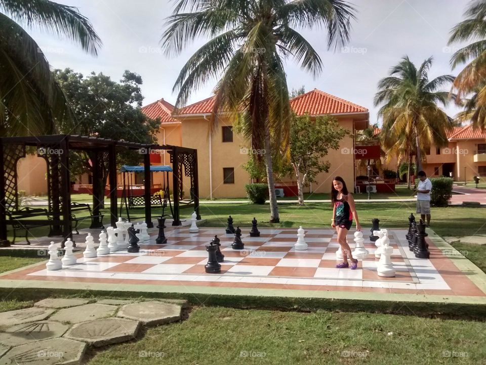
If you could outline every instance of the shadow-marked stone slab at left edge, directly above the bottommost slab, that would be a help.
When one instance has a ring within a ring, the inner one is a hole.
[[[0,343],[7,346],[19,346],[34,341],[61,337],[69,326],[59,322],[39,321],[22,323],[8,327],[0,333]]]

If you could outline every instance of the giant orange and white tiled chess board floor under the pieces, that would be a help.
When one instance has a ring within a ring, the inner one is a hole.
[[[116,251],[97,258],[85,259],[77,254],[77,264],[58,271],[46,270],[45,263],[24,270],[7,273],[0,280],[36,280],[79,283],[150,284],[178,287],[293,289],[315,291],[362,291],[416,295],[485,297],[486,294],[470,280],[451,260],[448,252],[436,247],[427,238],[430,259],[416,259],[409,250],[404,229],[388,229],[393,247],[391,261],[395,277],[377,275],[379,259],[376,246],[365,230],[365,247],[369,257],[360,260],[356,270],[337,269],[339,245],[336,231],[306,229],[308,249],[297,251],[294,244],[296,229],[264,229],[260,237],[250,237],[249,229],[241,236],[243,250],[234,250],[234,236],[224,228],[201,227],[198,233],[189,233],[187,227],[167,228],[168,243],[156,245],[156,231],[150,233],[151,242],[140,244],[140,252]],[[349,232],[348,242],[354,247]],[[221,272],[207,274],[206,245],[218,235],[224,262]],[[96,236],[95,236],[96,237]],[[283,294],[282,292],[282,295]]]

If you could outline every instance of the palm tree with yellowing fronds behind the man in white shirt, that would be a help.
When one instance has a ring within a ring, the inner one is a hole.
[[[383,129],[390,140],[406,138],[413,141],[417,170],[422,170],[422,152],[447,145],[447,131],[453,124],[447,114],[437,106],[447,105],[450,95],[437,91],[442,85],[454,81],[454,76],[442,75],[432,81],[428,71],[433,58],[426,59],[417,67],[406,56],[390,70],[390,76],[379,81],[375,106],[383,104],[378,115],[383,118]],[[383,133],[385,134],[385,133]]]

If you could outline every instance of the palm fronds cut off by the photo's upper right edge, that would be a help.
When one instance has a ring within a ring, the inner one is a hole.
[[[466,113],[459,115],[461,120],[469,116],[473,128],[486,129],[486,0],[476,0],[464,12],[466,18],[451,30],[449,45],[470,41],[451,57],[451,66],[467,63],[454,81],[457,90],[456,103],[466,107]],[[464,103],[463,98],[474,96]]]

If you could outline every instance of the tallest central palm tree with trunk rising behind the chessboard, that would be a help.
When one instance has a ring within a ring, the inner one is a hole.
[[[349,39],[354,9],[343,0],[180,0],[167,19],[161,43],[177,55],[196,36],[210,39],[199,48],[174,85],[176,107],[192,91],[219,78],[210,119],[213,133],[220,118],[239,122],[252,148],[265,160],[270,222],[279,222],[272,168],[275,156],[288,156],[292,109],[283,60],[292,57],[315,77],[322,62],[294,27],[327,28],[328,48]]]

